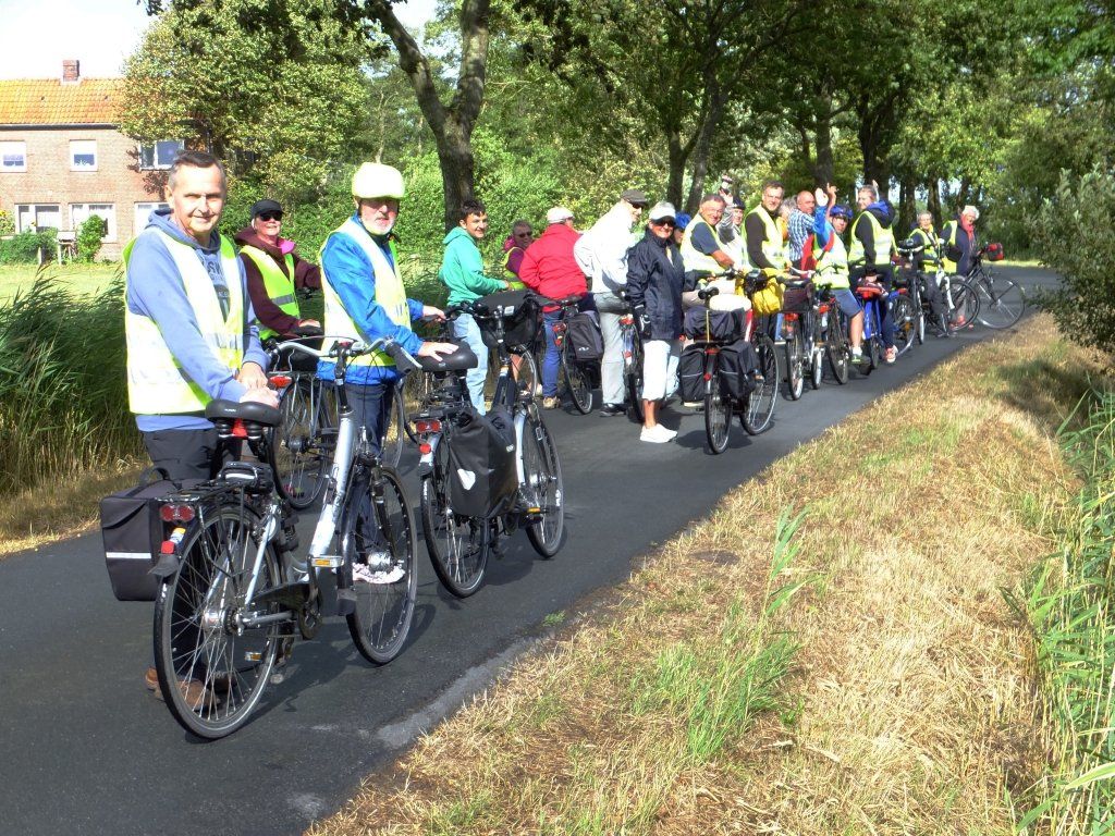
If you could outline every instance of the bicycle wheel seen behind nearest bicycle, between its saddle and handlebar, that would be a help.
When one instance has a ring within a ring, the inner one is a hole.
[[[275,487],[298,511],[310,507],[326,487],[329,459],[322,430],[329,425],[326,386],[299,376],[279,399],[282,421],[270,430],[268,464]]]

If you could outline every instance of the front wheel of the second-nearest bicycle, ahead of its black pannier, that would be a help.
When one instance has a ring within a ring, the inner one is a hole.
[[[565,531],[565,490],[561,458],[550,429],[533,408],[516,421],[520,490],[530,507],[539,508],[539,518],[526,527],[526,537],[543,557],[553,557],[561,548]]]

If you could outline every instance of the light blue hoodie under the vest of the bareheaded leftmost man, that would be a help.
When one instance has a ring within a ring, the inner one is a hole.
[[[203,247],[171,218],[171,210],[155,210],[147,226],[155,226],[177,241],[190,244],[197,251],[217,293],[227,293],[227,282],[240,282],[244,299],[244,362],[256,362],[266,369],[268,358],[260,348],[259,329],[252,324],[255,313],[248,295],[244,265],[240,264],[235,276],[226,276],[221,271],[221,236],[215,231],[210,246]],[[190,379],[196,382],[211,398],[240,400],[246,391],[234,379],[240,369],[229,369],[219,362],[201,336],[194,318],[194,310],[186,298],[182,276],[174,257],[158,237],[144,235],[132,247],[128,259],[128,279],[125,303],[133,313],[152,319],[166,341],[166,347],[182,364]],[[144,432],[164,429],[210,429],[212,424],[202,415],[137,415],[136,426]]]

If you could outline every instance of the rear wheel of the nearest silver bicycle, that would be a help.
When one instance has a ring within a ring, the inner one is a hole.
[[[227,629],[231,607],[206,609],[213,601],[240,600],[255,560],[259,522],[237,498],[198,514],[183,537],[178,571],[162,584],[155,602],[155,670],[163,699],[182,728],[207,740],[248,722],[279,647],[278,624],[237,635]],[[269,544],[256,589],[281,582]],[[266,613],[278,611],[278,603],[266,605]]]

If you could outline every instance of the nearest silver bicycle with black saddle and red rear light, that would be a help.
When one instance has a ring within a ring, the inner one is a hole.
[[[345,393],[349,361],[388,351],[400,369],[419,363],[390,341],[338,341],[328,351],[297,350],[336,361],[338,426],[328,489],[304,558],[294,555],[297,515],[278,493],[269,428],[280,410],[212,401],[205,416],[219,446],[246,439],[258,461],[230,460],[206,483],[167,496],[169,536],[153,570],[155,669],[167,709],[197,737],[216,739],[248,722],[272,673],[289,658],[295,631],[312,639],[323,616],[319,574],[337,575],[337,610],[360,654],[385,664],[401,651],[417,593],[415,524],[403,483],[372,454]],[[358,573],[355,575],[355,573]],[[331,584],[330,584],[331,585]]]

